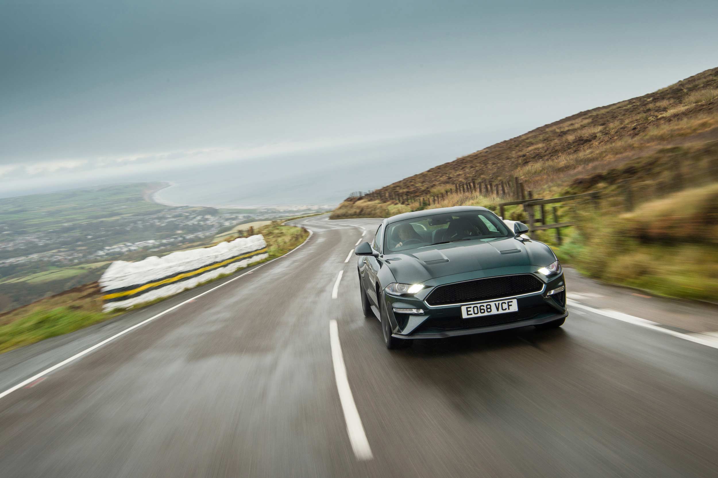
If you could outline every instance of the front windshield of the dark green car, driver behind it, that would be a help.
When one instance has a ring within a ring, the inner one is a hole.
[[[417,249],[459,241],[493,241],[513,234],[489,211],[433,214],[388,224],[384,249],[388,252]]]

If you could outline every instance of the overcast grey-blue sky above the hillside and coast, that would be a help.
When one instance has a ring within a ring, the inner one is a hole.
[[[322,172],[388,141],[406,170],[342,190],[382,186],[718,66],[717,18],[714,0],[0,0],[0,196],[258,158]]]

